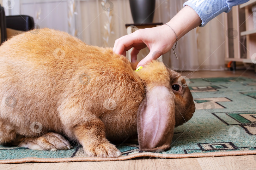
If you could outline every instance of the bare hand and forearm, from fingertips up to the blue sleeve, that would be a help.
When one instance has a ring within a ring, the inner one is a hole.
[[[190,30],[201,25],[201,22],[202,20],[194,9],[186,5],[167,24],[172,27],[179,39]],[[116,54],[126,55],[126,51],[133,48],[131,62],[135,63],[139,51],[148,47],[149,54],[138,63],[137,68],[140,65],[144,66],[153,59],[167,53],[176,42],[174,31],[168,25],[141,29],[123,36],[115,41],[113,51]]]

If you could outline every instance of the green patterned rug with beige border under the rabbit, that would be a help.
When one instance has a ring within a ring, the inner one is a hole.
[[[116,144],[118,158],[88,157],[81,146],[71,150],[38,151],[0,146],[0,163],[112,161],[140,156],[185,158],[256,154],[256,80],[245,77],[190,79],[196,111],[176,127],[171,149],[160,153],[138,150],[137,140]]]

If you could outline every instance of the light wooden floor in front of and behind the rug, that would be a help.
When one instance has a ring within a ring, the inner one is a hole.
[[[182,72],[188,78],[251,77],[253,70]],[[256,155],[127,161],[3,164],[0,169],[256,169]]]

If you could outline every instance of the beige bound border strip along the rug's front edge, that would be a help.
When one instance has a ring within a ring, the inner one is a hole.
[[[208,152],[208,153],[192,153],[192,154],[159,154],[159,153],[137,153],[128,156],[119,156],[117,158],[101,158],[101,157],[78,157],[78,158],[22,158],[0,160],[0,164],[6,163],[25,163],[25,162],[82,162],[82,161],[122,161],[137,157],[156,157],[164,158],[197,158],[197,157],[216,157],[216,156],[240,156],[240,155],[256,155],[256,150],[228,151],[228,152]]]

